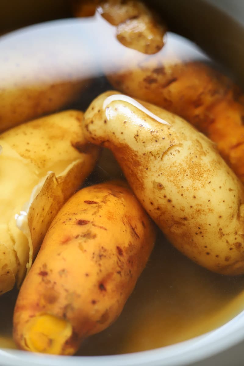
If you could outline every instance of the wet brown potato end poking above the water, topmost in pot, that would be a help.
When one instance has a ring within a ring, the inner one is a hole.
[[[73,8],[74,15],[78,17],[92,16],[97,10],[110,24],[116,26],[117,40],[126,47],[150,55],[164,46],[166,27],[160,24],[155,12],[141,1],[75,0]],[[110,33],[114,37],[111,28]],[[110,42],[109,45],[112,46]]]

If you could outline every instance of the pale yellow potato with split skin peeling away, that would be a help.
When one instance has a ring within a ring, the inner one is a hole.
[[[61,112],[0,135],[0,294],[20,284],[55,214],[94,167],[82,117]]]

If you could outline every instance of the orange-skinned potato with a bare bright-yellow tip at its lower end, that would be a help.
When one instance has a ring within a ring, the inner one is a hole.
[[[61,208],[20,288],[19,348],[73,354],[121,313],[147,263],[155,226],[123,182],[83,188]]]

